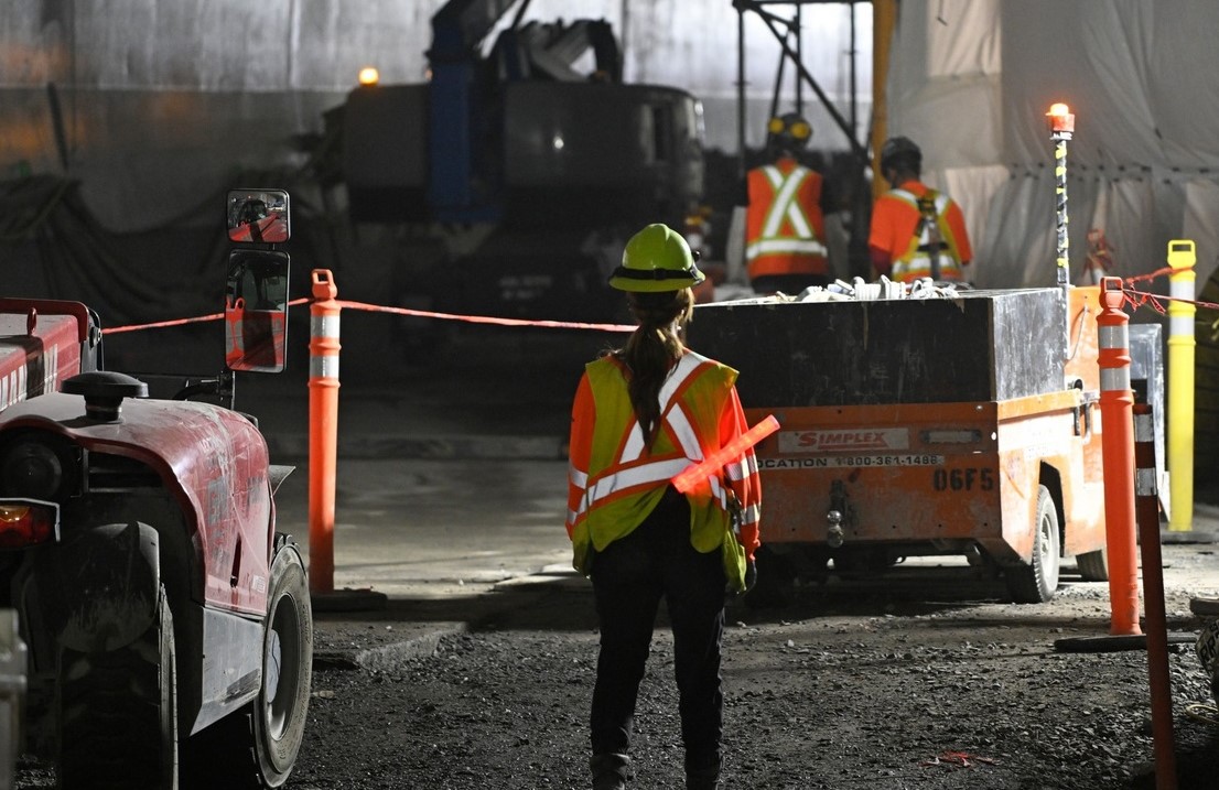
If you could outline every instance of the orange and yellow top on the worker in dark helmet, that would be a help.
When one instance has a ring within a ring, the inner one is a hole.
[[[887,252],[889,278],[904,283],[964,279],[963,267],[973,258],[961,207],[913,180],[876,200],[868,246]]]

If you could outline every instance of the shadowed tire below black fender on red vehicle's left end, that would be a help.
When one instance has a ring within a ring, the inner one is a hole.
[[[177,790],[178,694],[173,616],[105,653],[65,650],[60,663],[59,786]]]

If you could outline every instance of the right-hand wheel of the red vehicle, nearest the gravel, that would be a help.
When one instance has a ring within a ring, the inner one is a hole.
[[[313,613],[291,544],[280,545],[271,566],[262,651],[258,696],[190,739],[184,784],[191,790],[279,788],[296,764],[313,673]]]

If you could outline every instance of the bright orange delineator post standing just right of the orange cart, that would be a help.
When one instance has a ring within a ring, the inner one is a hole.
[[[1130,319],[1121,311],[1121,278],[1101,280],[1097,362],[1101,367],[1101,433],[1104,477],[1104,541],[1109,558],[1111,634],[1139,634],[1139,567],[1135,558],[1135,441],[1130,388]]]

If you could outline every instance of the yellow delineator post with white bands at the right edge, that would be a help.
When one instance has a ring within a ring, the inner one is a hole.
[[[1193,241],[1168,243],[1168,472],[1169,532],[1193,525]]]

